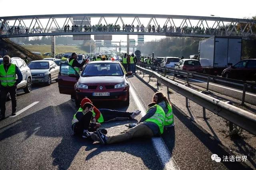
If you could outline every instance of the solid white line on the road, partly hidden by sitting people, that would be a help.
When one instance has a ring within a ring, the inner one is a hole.
[[[130,93],[132,94],[132,97],[134,98],[134,102],[136,103],[137,107],[140,109],[142,116],[146,115],[146,110],[142,106],[132,86],[130,86]],[[174,160],[172,159],[168,148],[164,144],[163,139],[161,137],[153,137],[151,141],[156,150],[156,154],[158,155],[158,158],[160,159],[160,162],[164,167],[164,170],[176,170],[177,166],[175,166]]]

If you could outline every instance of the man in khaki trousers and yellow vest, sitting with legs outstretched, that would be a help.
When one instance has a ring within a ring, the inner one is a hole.
[[[132,138],[151,138],[154,135],[162,134],[164,131],[164,110],[155,102],[149,104],[148,107],[149,109],[146,115],[144,115],[138,122],[138,125],[134,126],[132,129],[127,129],[114,136],[106,136],[97,129],[97,135],[92,134],[91,138],[94,141],[99,141],[101,144],[106,145],[127,141]]]

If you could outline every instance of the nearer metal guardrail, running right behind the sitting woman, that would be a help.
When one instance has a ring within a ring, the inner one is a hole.
[[[224,119],[238,125],[242,129],[256,135],[256,115],[240,109],[238,107],[232,106],[225,102],[222,102],[216,98],[202,94],[196,90],[188,88],[182,84],[174,82],[164,76],[161,76],[157,72],[148,70],[141,66],[136,66],[138,70],[154,76],[158,81],[165,84],[168,88],[171,88],[175,92],[186,97],[186,101],[192,100],[203,108],[208,109],[209,111],[215,113],[216,115],[223,117]]]

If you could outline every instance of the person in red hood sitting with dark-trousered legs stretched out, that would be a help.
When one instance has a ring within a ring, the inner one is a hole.
[[[89,98],[84,98],[81,101],[80,108],[78,111],[82,111],[82,106],[84,106],[85,103],[92,104],[92,101]],[[97,109],[95,106],[93,106],[92,109],[92,122],[108,122],[108,121],[114,121],[114,120],[126,120],[126,119],[134,119],[137,115],[140,114],[141,111],[136,110],[134,112],[126,112],[126,111],[118,111],[118,110],[111,110],[111,109]]]

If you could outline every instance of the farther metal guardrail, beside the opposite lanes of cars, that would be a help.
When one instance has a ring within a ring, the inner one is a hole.
[[[155,65],[148,65],[148,64],[139,64],[143,67],[148,67],[150,66],[151,68],[157,68],[158,70],[163,70],[163,71],[169,71],[171,72],[172,74],[179,74],[179,75],[182,75],[182,76],[187,76],[189,75],[191,78],[192,77],[200,77],[200,78],[204,78],[206,80],[208,80],[209,78],[209,81],[212,80],[213,82],[222,82],[222,83],[225,83],[225,84],[230,84],[230,85],[234,85],[234,86],[240,86],[240,87],[243,87],[244,84],[246,83],[247,87],[248,88],[251,88],[251,89],[256,89],[256,83],[253,83],[253,82],[245,82],[245,81],[241,81],[241,80],[234,80],[234,79],[231,79],[231,78],[223,78],[223,77],[218,77],[218,76],[212,76],[212,75],[208,75],[208,74],[202,74],[202,73],[198,73],[198,72],[191,72],[191,71],[186,71],[186,70],[177,70],[177,69],[174,69],[174,68],[165,68],[165,67],[160,67],[160,66],[155,66]]]

